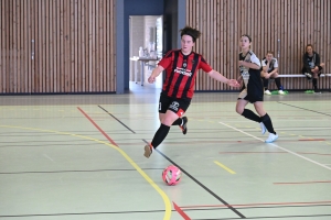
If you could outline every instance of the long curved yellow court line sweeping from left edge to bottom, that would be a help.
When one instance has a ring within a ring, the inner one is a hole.
[[[35,128],[24,128],[24,127],[11,127],[11,125],[0,125],[0,127],[9,128],[9,129],[22,129],[22,130],[33,130],[33,131],[42,131],[42,132],[49,132],[49,133],[66,134],[66,135],[71,135],[71,136],[87,139],[87,140],[95,141],[95,142],[105,144],[107,146],[110,146],[111,148],[118,151],[137,169],[137,172],[160,194],[160,196],[162,197],[162,199],[164,201],[164,206],[166,206],[163,220],[170,220],[172,208],[171,208],[170,199],[167,196],[167,194],[138,166],[138,164],[136,162],[134,162],[134,160],[131,160],[131,157],[129,157],[118,146],[115,146],[110,143],[107,143],[107,142],[104,142],[104,141],[100,141],[100,140],[97,140],[97,139],[93,139],[93,138],[89,138],[89,136],[84,136],[84,135],[73,134],[73,133],[67,133],[67,132],[44,130],[44,129],[35,129]]]

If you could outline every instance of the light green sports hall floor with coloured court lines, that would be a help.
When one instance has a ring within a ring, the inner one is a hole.
[[[0,96],[0,219],[331,219],[330,92],[266,96],[271,144],[237,92],[196,92],[188,134],[171,128],[145,158],[159,91]]]

